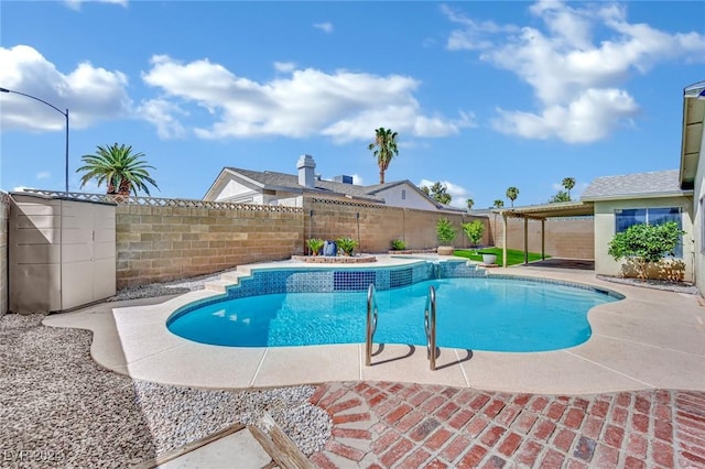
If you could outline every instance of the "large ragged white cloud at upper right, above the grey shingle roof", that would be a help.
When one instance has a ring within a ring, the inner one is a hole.
[[[452,51],[479,51],[480,59],[516,74],[538,98],[535,111],[498,109],[495,129],[527,139],[587,143],[629,123],[639,106],[625,89],[630,74],[661,62],[705,61],[705,35],[669,33],[627,21],[614,3],[573,7],[541,0],[529,12],[543,29],[482,23],[445,8],[462,29],[448,34]],[[606,36],[597,37],[598,32]]]

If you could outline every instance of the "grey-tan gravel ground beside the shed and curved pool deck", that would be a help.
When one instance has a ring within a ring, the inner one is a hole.
[[[311,455],[330,435],[315,386],[199,390],[137,381],[90,358],[91,332],[0,318],[0,467],[124,468],[268,412]]]

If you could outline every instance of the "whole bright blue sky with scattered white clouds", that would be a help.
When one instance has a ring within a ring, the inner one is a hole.
[[[143,152],[156,197],[225,166],[442,182],[486,208],[575,177],[676,168],[683,88],[705,79],[705,2],[2,1],[0,87],[69,110],[80,156]],[[63,190],[64,117],[0,94],[0,188]],[[105,192],[86,185],[82,190]],[[509,203],[507,201],[507,205]]]

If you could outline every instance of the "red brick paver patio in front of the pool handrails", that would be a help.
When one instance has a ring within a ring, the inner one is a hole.
[[[319,468],[703,468],[705,393],[539,395],[390,382],[323,384]]]

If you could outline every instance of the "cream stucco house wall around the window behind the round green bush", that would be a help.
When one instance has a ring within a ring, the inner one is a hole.
[[[595,273],[620,275],[623,260],[615,261],[607,250],[615,236],[615,210],[627,208],[681,207],[683,236],[683,262],[686,282],[693,281],[693,200],[691,197],[659,197],[595,201]]]

